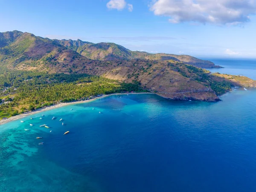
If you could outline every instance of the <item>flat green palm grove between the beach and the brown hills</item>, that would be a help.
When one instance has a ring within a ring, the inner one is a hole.
[[[122,92],[144,92],[140,84],[123,83],[87,74],[49,74],[0,70],[0,118],[33,111],[57,102],[90,99],[92,96]]]

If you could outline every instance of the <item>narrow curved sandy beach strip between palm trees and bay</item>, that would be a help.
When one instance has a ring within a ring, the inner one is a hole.
[[[11,122],[11,121],[15,121],[17,119],[20,119],[20,118],[23,118],[23,117],[26,117],[26,116],[29,116],[29,115],[33,115],[33,114],[40,113],[40,112],[43,112],[43,111],[48,111],[48,110],[55,109],[55,108],[61,108],[61,107],[67,106],[67,105],[75,105],[75,104],[79,104],[79,103],[88,103],[88,102],[93,102],[97,99],[102,99],[102,98],[105,98],[105,97],[108,97],[108,96],[125,95],[125,94],[154,94],[154,93],[150,93],[150,92],[145,92],[145,93],[113,93],[113,94],[109,94],[109,95],[98,96],[96,98],[88,99],[88,100],[84,100],[84,101],[58,103],[58,104],[55,104],[55,105],[52,105],[52,106],[49,106],[49,107],[40,108],[40,109],[35,110],[35,111],[29,111],[29,112],[26,112],[26,113],[23,113],[23,114],[12,116],[12,117],[9,117],[8,119],[1,119],[0,120],[0,125],[3,125],[5,123]]]

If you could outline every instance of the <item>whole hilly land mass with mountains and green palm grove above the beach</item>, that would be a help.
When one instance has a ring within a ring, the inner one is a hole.
[[[0,33],[0,118],[99,94],[152,92],[168,99],[219,101],[244,76],[210,73],[211,61],[131,51],[113,43]]]

